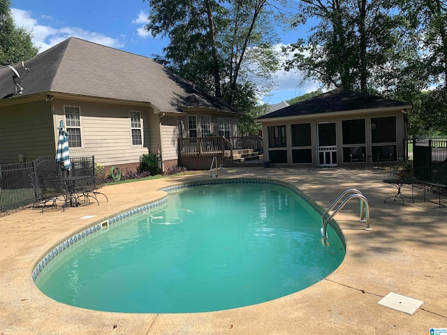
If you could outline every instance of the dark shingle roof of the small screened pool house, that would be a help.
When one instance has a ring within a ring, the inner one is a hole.
[[[369,110],[384,107],[409,107],[409,105],[409,103],[403,103],[402,101],[381,98],[380,96],[355,92],[349,89],[334,89],[319,96],[314,96],[314,98],[284,107],[281,110],[275,110],[258,117],[258,119],[294,117],[349,110]]]

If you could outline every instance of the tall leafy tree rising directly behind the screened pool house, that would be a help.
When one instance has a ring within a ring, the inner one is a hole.
[[[396,3],[382,0],[302,0],[297,22],[319,19],[307,40],[286,52],[286,68],[298,68],[326,87],[372,91],[389,84],[383,76],[398,68],[408,45]]]

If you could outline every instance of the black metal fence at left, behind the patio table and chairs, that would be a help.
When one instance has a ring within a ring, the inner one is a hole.
[[[27,163],[0,164],[0,212],[17,209],[27,204],[33,204],[36,193],[36,161]],[[94,173],[94,156],[71,158],[71,174],[77,175],[79,169],[92,168]]]

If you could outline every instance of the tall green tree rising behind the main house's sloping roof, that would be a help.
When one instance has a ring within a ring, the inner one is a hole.
[[[275,15],[284,17],[277,6],[266,0],[147,1],[147,30],[170,39],[156,61],[242,112],[271,87],[279,68],[272,50]]]

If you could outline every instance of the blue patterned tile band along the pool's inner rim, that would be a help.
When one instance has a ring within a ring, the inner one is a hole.
[[[250,178],[219,179],[219,180],[213,179],[207,181],[196,181],[192,183],[179,184],[176,186],[169,186],[166,188],[162,188],[161,191],[165,191],[166,193],[169,194],[175,191],[180,191],[182,188],[212,185],[212,184],[269,184],[269,185],[283,186],[299,195],[300,198],[305,200],[305,202],[307,202],[307,204],[309,204],[318,214],[322,215],[324,213],[324,209],[318,206],[318,204],[316,204],[312,199],[308,198],[307,195],[305,195],[304,193],[302,193],[302,191],[300,191],[300,189],[296,188],[291,184],[286,183],[285,181],[278,181],[274,179],[250,179]],[[144,204],[140,207],[129,209],[128,211],[116,214],[115,216],[112,216],[101,222],[95,223],[94,225],[91,225],[91,227],[85,228],[84,230],[81,230],[80,232],[73,234],[71,237],[68,237],[68,239],[65,239],[61,243],[57,244],[57,246],[54,246],[54,248],[48,251],[48,253],[37,263],[37,265],[31,272],[31,277],[33,278],[33,281],[36,282],[36,279],[40,274],[49,271],[52,268],[54,263],[56,263],[54,262],[54,258],[61,260],[63,258],[61,257],[61,255],[68,254],[68,252],[66,251],[71,251],[74,248],[78,248],[80,245],[82,245],[83,243],[80,243],[80,241],[83,242],[88,241],[89,239],[91,239],[91,237],[94,236],[94,234],[103,232],[104,228],[115,228],[118,225],[125,223],[126,222],[125,219],[131,216],[134,217],[138,215],[145,215],[147,214],[147,212],[160,209],[160,207],[163,206],[163,204],[166,204],[167,201],[168,198],[165,197],[160,200],[151,202],[149,204]],[[339,225],[337,225],[335,220],[331,220],[329,225],[337,233],[339,239],[342,241],[344,245],[344,248],[346,249],[346,242],[344,239],[344,235],[342,233],[342,230],[339,228]]]

